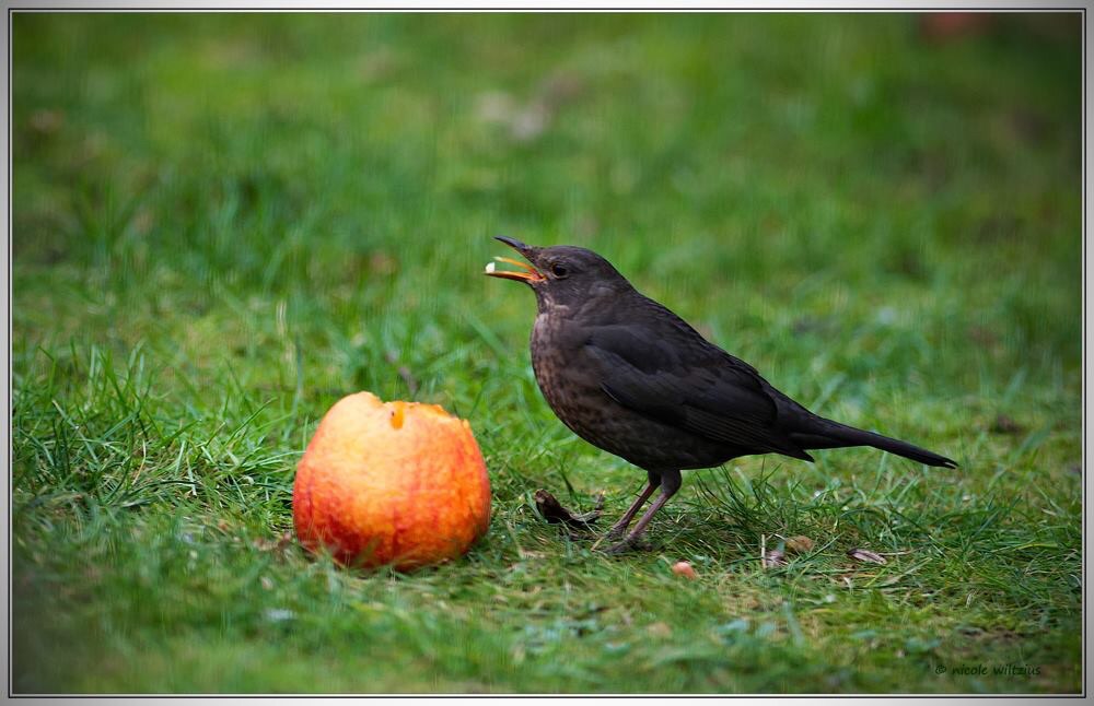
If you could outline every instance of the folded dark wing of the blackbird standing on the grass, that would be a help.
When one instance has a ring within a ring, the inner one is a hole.
[[[759,374],[690,333],[647,337],[601,326],[590,332],[585,351],[601,388],[624,407],[754,452],[812,460],[779,428],[776,400]]]

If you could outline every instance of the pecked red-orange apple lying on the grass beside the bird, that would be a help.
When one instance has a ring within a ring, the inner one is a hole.
[[[301,544],[347,566],[405,570],[462,556],[490,523],[490,479],[470,425],[435,404],[349,395],[296,466]]]

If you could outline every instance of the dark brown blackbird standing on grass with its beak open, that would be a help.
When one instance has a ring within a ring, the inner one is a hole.
[[[536,247],[498,237],[531,264],[496,260],[486,274],[524,282],[536,295],[532,367],[555,414],[578,436],[645,470],[649,484],[608,532],[608,551],[633,548],[680,486],[680,471],[738,456],[782,454],[812,461],[810,449],[873,446],[928,466],[939,456],[810,412],[756,368],[707,341],[643,296],[612,263],[585,248]],[[635,515],[661,493],[629,534]]]

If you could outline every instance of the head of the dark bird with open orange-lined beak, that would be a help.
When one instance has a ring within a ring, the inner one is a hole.
[[[592,250],[573,245],[536,247],[504,236],[497,239],[520,252],[531,264],[510,258],[494,258],[521,269],[498,270],[490,262],[486,266],[486,274],[524,282],[536,293],[540,310],[545,306],[581,305],[589,299],[633,289],[610,262]]]

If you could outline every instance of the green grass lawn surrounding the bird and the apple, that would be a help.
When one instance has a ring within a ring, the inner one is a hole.
[[[996,20],[16,14],[12,689],[1081,691],[1080,15]],[[591,551],[532,493],[644,474],[546,407],[494,234],[961,468],[741,458]],[[278,541],[359,389],[470,421],[465,558]]]

